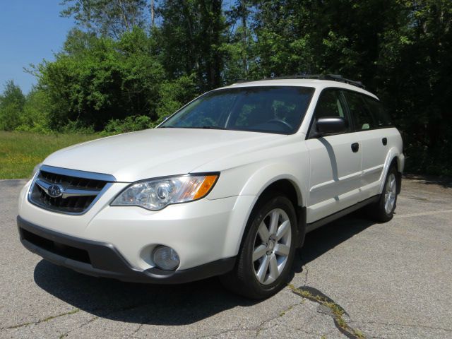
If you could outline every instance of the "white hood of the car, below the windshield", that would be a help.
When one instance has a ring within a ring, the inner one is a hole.
[[[186,174],[207,162],[262,149],[285,137],[213,129],[147,129],[73,145],[49,155],[43,163],[112,174],[118,182],[135,182]]]

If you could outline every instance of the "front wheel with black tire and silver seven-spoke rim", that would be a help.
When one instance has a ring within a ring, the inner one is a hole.
[[[297,218],[283,194],[262,198],[246,225],[237,263],[220,280],[251,299],[268,298],[285,287],[295,256]]]

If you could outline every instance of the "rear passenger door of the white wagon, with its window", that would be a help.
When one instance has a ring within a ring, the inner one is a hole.
[[[388,136],[382,129],[386,121],[372,113],[376,109],[376,105],[380,105],[377,100],[351,90],[344,90],[343,94],[354,121],[359,144],[362,147],[359,200],[364,200],[379,194],[380,180],[388,153]]]

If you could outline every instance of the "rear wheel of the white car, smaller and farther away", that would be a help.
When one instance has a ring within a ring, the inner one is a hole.
[[[394,216],[397,204],[397,168],[391,166],[386,174],[383,192],[380,194],[379,201],[369,206],[369,212],[372,219],[378,222],[387,222]]]

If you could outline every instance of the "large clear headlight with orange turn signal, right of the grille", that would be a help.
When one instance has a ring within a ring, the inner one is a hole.
[[[136,182],[114,198],[112,206],[140,206],[161,210],[172,203],[185,203],[206,196],[218,174],[184,175]]]

